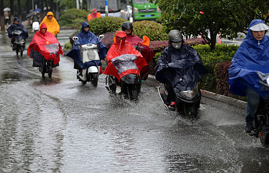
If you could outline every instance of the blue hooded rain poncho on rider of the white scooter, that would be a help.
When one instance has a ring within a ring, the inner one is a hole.
[[[85,27],[89,26],[87,22],[82,23],[81,31],[77,34],[79,38],[77,43],[76,41],[73,44],[73,48],[66,54],[67,56],[71,57],[82,69],[87,69],[90,66],[101,66],[101,59],[104,59],[107,54],[107,47],[99,41],[99,39],[90,31],[86,32],[84,30]],[[98,44],[98,55],[100,60],[93,60],[86,63],[83,63],[82,57],[79,50],[79,45],[92,43]]]

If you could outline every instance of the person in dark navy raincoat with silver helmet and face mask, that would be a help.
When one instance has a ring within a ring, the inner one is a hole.
[[[193,80],[199,80],[208,71],[197,51],[187,44],[183,44],[183,37],[179,30],[169,32],[169,46],[164,49],[158,58],[155,67],[156,80],[166,85],[168,96],[167,101],[171,103],[168,108],[175,107],[175,91],[190,90],[195,87]],[[177,61],[181,61],[181,66],[173,66]],[[192,76],[187,75],[187,71]],[[180,85],[178,85],[178,83]],[[191,85],[192,84],[192,85]]]

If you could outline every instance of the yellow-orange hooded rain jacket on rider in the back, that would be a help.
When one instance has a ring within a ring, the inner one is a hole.
[[[47,18],[48,15],[52,15],[52,19],[49,20]],[[59,32],[60,32],[60,26],[57,22],[57,20],[53,17],[53,13],[51,11],[48,11],[46,16],[44,17],[43,21],[41,22],[41,24],[45,23],[48,32],[52,33],[54,36],[56,36]],[[41,26],[40,24],[40,26]],[[40,27],[39,26],[39,27]]]

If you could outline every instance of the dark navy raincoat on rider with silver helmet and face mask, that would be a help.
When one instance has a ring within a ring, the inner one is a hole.
[[[169,45],[164,49],[155,67],[155,77],[161,83],[169,80],[177,93],[190,90],[208,71],[197,51],[182,44],[180,49]]]

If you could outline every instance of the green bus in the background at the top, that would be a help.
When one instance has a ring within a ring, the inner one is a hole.
[[[133,19],[136,20],[156,20],[161,16],[161,11],[154,3],[148,0],[132,0]]]

